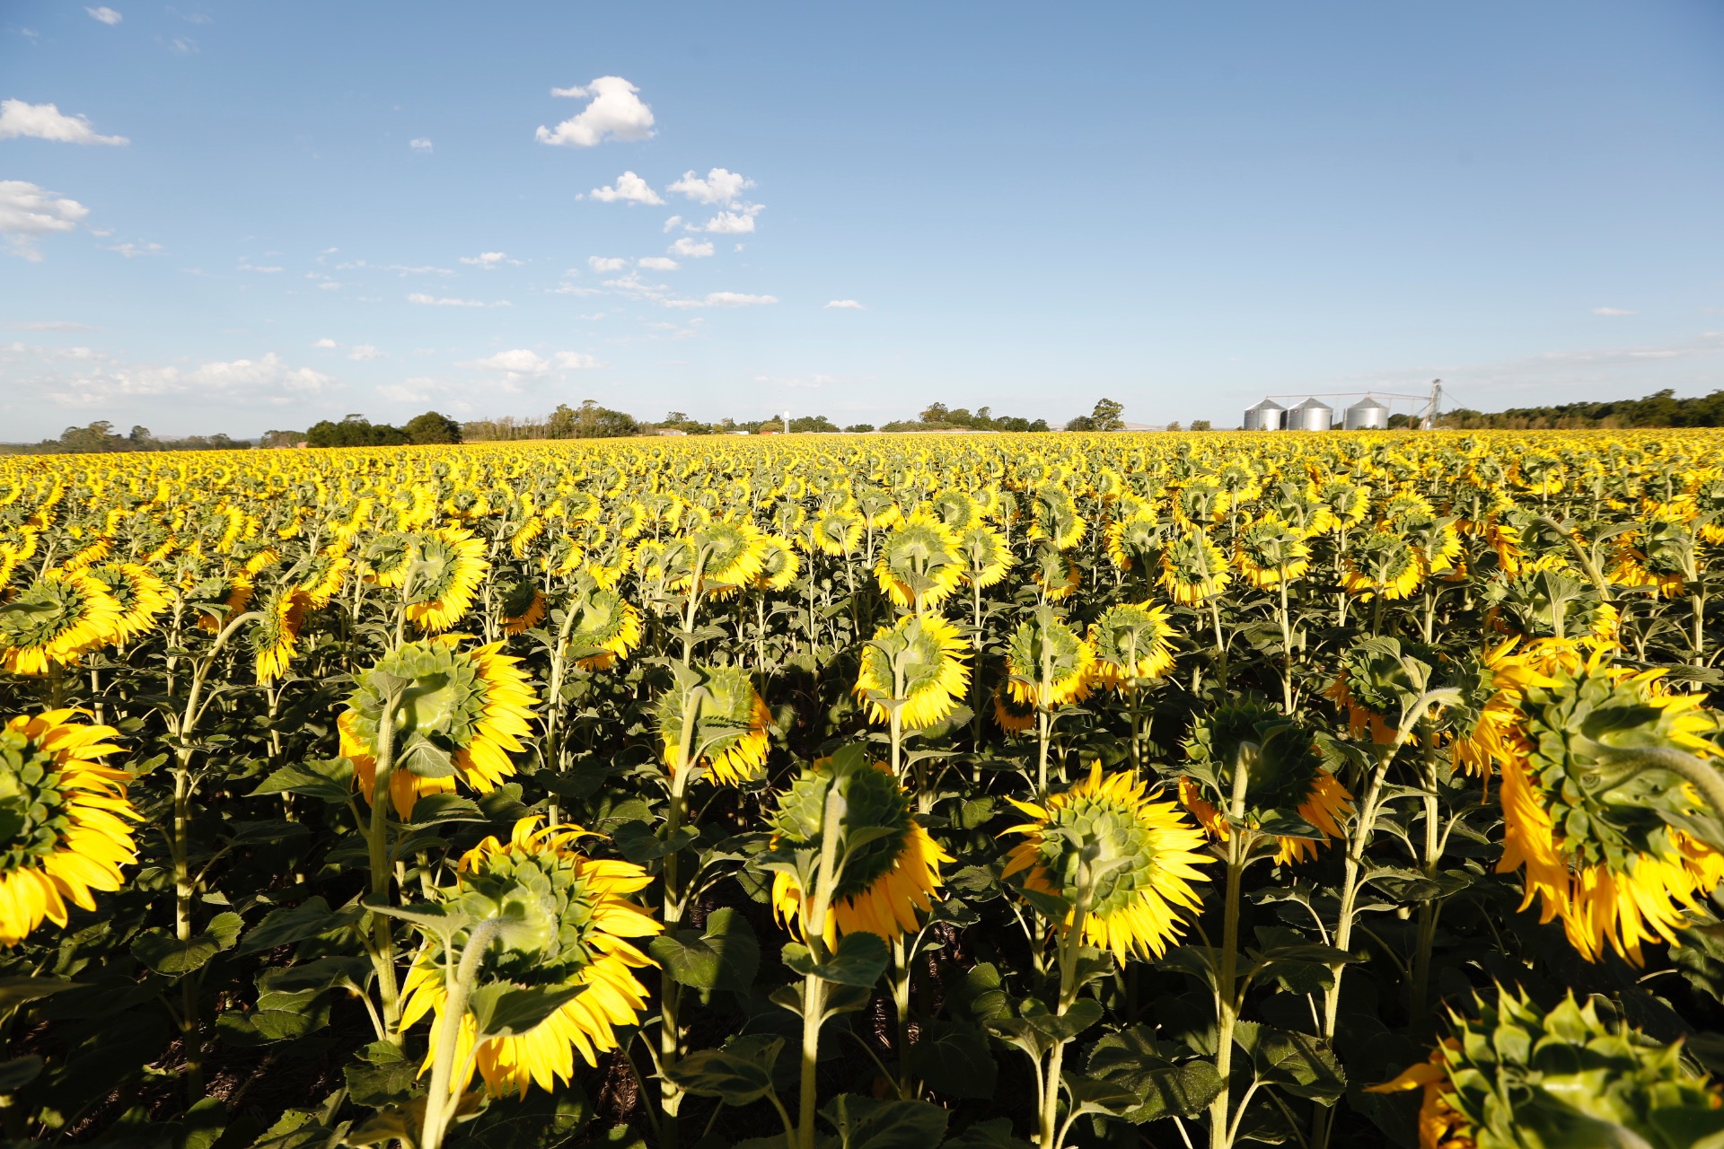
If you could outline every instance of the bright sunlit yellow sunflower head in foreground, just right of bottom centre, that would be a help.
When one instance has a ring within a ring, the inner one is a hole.
[[[1002,877],[1065,901],[1064,929],[1088,901],[1084,941],[1121,963],[1162,956],[1183,930],[1179,911],[1200,906],[1191,882],[1205,880],[1196,866],[1209,858],[1196,853],[1203,830],[1177,803],[1153,798],[1136,772],[1103,779],[1096,761],[1086,779],[1041,804],[1010,799],[1033,820],[1005,830],[1026,841],[1010,849]]]

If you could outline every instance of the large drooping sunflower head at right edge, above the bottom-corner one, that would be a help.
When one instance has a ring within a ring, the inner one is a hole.
[[[1698,694],[1671,694],[1664,670],[1608,663],[1598,646],[1546,672],[1529,658],[1500,667],[1519,724],[1503,741],[1503,856],[1498,873],[1526,870],[1521,908],[1562,918],[1588,961],[1610,946],[1643,965],[1641,942],[1676,942],[1684,911],[1724,880],[1724,856],[1672,825],[1707,813],[1674,773],[1641,770],[1634,751],[1724,758],[1719,722]],[[1714,815],[1717,811],[1712,811]]]

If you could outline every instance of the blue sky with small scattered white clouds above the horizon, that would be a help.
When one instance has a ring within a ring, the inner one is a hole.
[[[1724,386],[1710,2],[14,0],[0,100],[3,439]]]

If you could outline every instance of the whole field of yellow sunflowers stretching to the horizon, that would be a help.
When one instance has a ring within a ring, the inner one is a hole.
[[[1703,431],[0,458],[0,1139],[1724,1149],[1721,572]]]

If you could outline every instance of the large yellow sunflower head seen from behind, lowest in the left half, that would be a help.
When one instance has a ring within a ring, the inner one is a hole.
[[[576,849],[588,830],[576,825],[540,825],[540,817],[515,822],[507,842],[486,837],[460,858],[453,887],[441,899],[476,918],[519,920],[486,947],[481,984],[583,992],[548,1018],[507,1037],[479,1042],[472,1013],[462,1018],[455,1065],[467,1077],[478,1070],[493,1097],[524,1097],[531,1085],[550,1092],[574,1077],[574,1054],[590,1066],[617,1047],[617,1027],[629,1027],[646,1008],[646,989],[634,978],[640,966],[657,965],[629,939],[652,937],[664,927],[629,899],[652,877],[629,861],[593,860]],[[471,937],[471,930],[469,930]],[[407,973],[402,1027],[428,1013],[431,1047],[421,1073],[436,1063],[448,1001],[450,954],[433,942]],[[474,1044],[478,1042],[478,1049]]]

